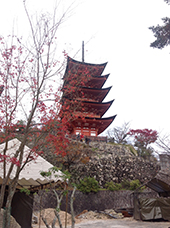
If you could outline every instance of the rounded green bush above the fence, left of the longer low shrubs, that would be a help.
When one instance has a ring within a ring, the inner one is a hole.
[[[83,180],[80,180],[77,188],[83,193],[98,192],[100,189],[99,183],[94,177],[85,177]]]

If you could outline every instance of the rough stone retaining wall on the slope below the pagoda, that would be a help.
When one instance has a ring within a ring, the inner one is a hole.
[[[143,183],[152,179],[160,169],[155,159],[144,160],[127,146],[107,143],[93,143],[90,146],[93,155],[89,162],[70,168],[76,183],[86,176],[94,177],[101,187],[106,182],[121,182],[123,179],[139,179]]]

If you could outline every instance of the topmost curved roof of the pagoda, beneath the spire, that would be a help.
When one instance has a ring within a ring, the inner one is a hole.
[[[101,76],[107,63],[92,64],[74,60],[70,57],[67,58],[67,67],[63,79],[84,76]]]

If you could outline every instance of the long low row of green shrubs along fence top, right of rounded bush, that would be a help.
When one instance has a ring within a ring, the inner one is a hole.
[[[105,187],[107,190],[110,191],[119,191],[119,190],[131,190],[134,191],[137,188],[139,188],[141,185],[140,181],[138,179],[136,180],[123,180],[121,183],[114,183],[113,181],[107,182],[105,184]],[[143,190],[144,187],[141,188]]]

